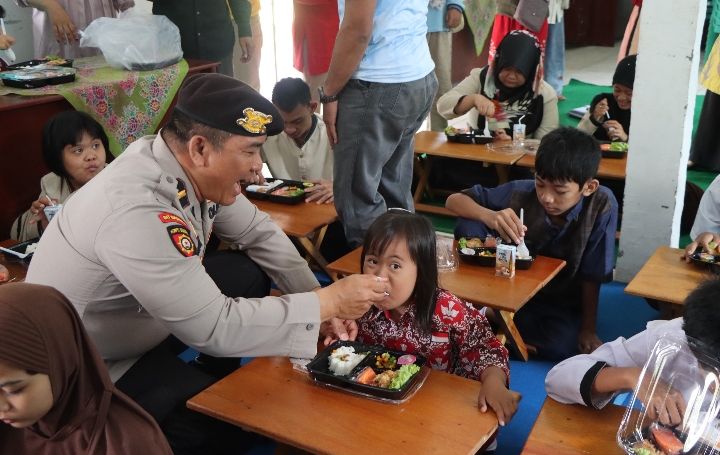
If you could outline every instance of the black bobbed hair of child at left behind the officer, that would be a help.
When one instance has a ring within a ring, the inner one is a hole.
[[[70,178],[63,164],[63,149],[82,140],[83,132],[93,139],[100,139],[105,147],[105,163],[115,158],[110,153],[110,143],[100,125],[88,114],[79,111],[61,112],[45,123],[42,131],[42,153],[45,165],[60,177]]]

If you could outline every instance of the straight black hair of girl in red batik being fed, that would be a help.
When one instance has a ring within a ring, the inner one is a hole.
[[[380,215],[365,233],[360,267],[365,264],[365,255],[382,254],[395,239],[405,239],[410,258],[417,266],[412,293],[417,307],[417,328],[429,334],[437,302],[438,271],[435,229],[427,218],[398,209]]]

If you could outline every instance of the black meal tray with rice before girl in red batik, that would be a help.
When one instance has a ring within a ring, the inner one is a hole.
[[[352,369],[350,374],[348,374],[347,376],[336,376],[333,374],[332,371],[330,371],[328,358],[332,354],[333,350],[343,346],[351,346],[355,348],[356,353],[366,351],[369,351],[370,353],[355,368]],[[425,357],[420,354],[412,355],[415,356],[414,364],[419,366],[421,370],[411,376],[410,379],[408,379],[408,381],[400,389],[383,389],[380,387],[375,387],[373,385],[361,384],[354,381],[358,373],[364,370],[367,366],[371,366],[376,373],[384,371],[382,368],[375,367],[375,356],[381,355],[384,352],[390,353],[390,355],[398,359],[401,356],[408,354],[404,351],[388,349],[377,345],[364,344],[357,341],[337,341],[328,346],[323,352],[318,354],[307,365],[307,369],[315,382],[318,383],[333,385],[336,387],[347,389],[349,391],[358,392],[359,394],[369,395],[371,397],[383,398],[388,400],[402,400],[413,389],[416,381],[418,381],[421,376],[422,367],[427,362]],[[398,365],[397,368],[400,368],[400,365]]]

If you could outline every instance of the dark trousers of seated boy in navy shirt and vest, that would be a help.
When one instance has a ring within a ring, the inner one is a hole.
[[[515,314],[515,326],[525,343],[535,346],[540,357],[559,361],[578,351],[580,308],[531,299]]]

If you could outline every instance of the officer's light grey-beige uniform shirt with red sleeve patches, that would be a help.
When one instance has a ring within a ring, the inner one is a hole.
[[[224,296],[201,262],[213,227],[280,289],[298,294]],[[309,291],[319,284],[307,263],[245,197],[225,207],[199,201],[159,135],[133,143],[68,199],[27,281],[70,299],[114,381],[170,333],[214,356],[316,352],[320,305]]]

